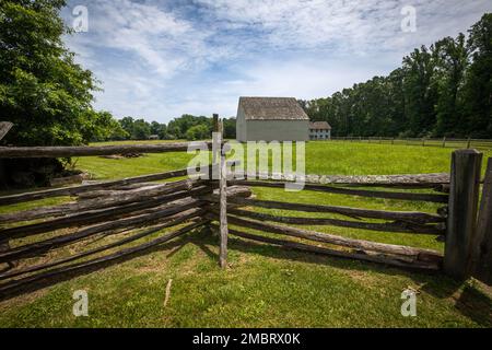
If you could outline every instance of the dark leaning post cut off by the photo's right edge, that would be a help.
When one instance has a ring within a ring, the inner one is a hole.
[[[492,284],[492,158],[489,158],[483,180],[482,200],[473,242],[472,275]]]

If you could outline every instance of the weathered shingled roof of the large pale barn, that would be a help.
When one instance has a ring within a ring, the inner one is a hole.
[[[308,120],[294,97],[239,97],[247,120]]]

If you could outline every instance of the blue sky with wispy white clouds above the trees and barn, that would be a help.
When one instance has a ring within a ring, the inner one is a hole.
[[[167,122],[229,117],[237,98],[325,97],[387,74],[420,45],[466,32],[491,0],[69,0],[65,38],[101,81],[95,107]],[[403,32],[405,7],[415,31]]]

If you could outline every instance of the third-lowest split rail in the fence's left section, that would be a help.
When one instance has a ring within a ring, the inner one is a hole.
[[[110,222],[104,222],[97,225],[89,226],[86,229],[79,230],[74,233],[66,234],[62,236],[57,236],[52,238],[48,238],[45,241],[39,241],[26,245],[22,245],[19,247],[11,248],[10,250],[0,252],[0,262],[17,260],[21,258],[27,258],[32,256],[36,256],[39,254],[44,254],[48,250],[66,246],[70,243],[81,241],[89,236],[95,235],[101,232],[105,232],[108,230],[116,230],[125,226],[133,226],[133,225],[145,225],[153,223],[159,220],[163,220],[166,217],[173,215],[180,211],[185,211],[195,207],[200,206],[202,202],[199,200],[177,200],[169,208],[160,210],[157,212],[153,212],[151,214],[142,214],[137,217],[130,217],[125,219],[119,219]]]

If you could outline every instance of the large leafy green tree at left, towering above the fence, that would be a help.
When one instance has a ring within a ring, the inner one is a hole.
[[[62,35],[62,0],[0,2],[0,119],[14,122],[3,142],[83,144],[115,127],[91,103],[91,71],[74,62]]]

